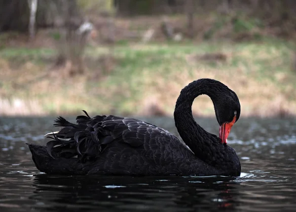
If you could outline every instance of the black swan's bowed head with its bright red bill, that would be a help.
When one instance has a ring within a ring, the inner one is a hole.
[[[220,125],[219,137],[226,144],[230,129],[240,116],[240,103],[235,92],[227,87],[215,102],[215,112]]]

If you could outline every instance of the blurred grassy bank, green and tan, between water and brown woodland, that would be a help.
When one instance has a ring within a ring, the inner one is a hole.
[[[242,116],[296,114],[292,50],[282,41],[124,44],[89,47],[86,73],[69,78],[53,67],[51,48],[0,50],[0,114],[173,114],[180,90],[213,78],[233,89]],[[214,115],[209,97],[193,104],[197,115]]]

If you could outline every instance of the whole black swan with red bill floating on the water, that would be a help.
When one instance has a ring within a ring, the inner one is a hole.
[[[210,96],[219,137],[193,119],[193,100]],[[174,112],[175,125],[184,140],[169,131],[132,118],[78,116],[77,124],[57,118],[45,146],[28,144],[38,170],[48,174],[117,175],[224,175],[239,176],[241,165],[227,136],[239,119],[237,95],[212,79],[199,79],[182,89]],[[188,148],[189,147],[189,148]]]

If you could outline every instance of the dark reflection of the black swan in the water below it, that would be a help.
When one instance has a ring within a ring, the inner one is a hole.
[[[50,211],[211,211],[239,205],[229,177],[36,175],[30,199]]]

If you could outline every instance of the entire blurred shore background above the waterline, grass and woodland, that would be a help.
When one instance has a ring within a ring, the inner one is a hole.
[[[296,114],[295,0],[0,0],[0,115],[172,116],[213,78],[241,116]],[[196,116],[214,116],[198,97]]]

